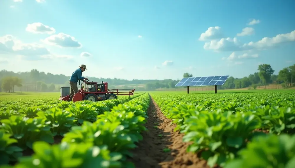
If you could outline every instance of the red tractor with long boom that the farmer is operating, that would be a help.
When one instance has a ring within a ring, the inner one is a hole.
[[[79,82],[80,85],[80,82]],[[83,85],[83,86],[82,86]],[[73,102],[89,100],[92,102],[117,99],[118,95],[133,95],[135,89],[108,89],[108,82],[88,82],[81,83],[81,88],[73,96]],[[60,87],[59,100],[68,101],[70,98],[70,87]]]

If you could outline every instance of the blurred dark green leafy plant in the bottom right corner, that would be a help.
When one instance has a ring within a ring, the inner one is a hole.
[[[224,168],[294,168],[295,135],[269,134],[249,142],[239,152],[239,157],[227,163]]]

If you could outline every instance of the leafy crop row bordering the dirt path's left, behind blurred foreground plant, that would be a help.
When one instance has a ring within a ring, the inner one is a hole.
[[[106,145],[111,152],[122,154],[120,161],[124,167],[132,166],[127,157],[132,157],[129,150],[136,147],[135,142],[142,139],[140,133],[146,130],[144,124],[148,100],[148,96],[144,96],[119,104],[111,112],[97,116],[93,123],[84,121],[81,126],[72,127],[62,142]]]

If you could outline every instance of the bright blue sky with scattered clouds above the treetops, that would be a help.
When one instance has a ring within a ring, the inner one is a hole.
[[[295,1],[2,0],[0,66],[121,79],[244,77],[295,63]]]

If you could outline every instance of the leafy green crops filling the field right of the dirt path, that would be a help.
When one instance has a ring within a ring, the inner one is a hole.
[[[221,94],[193,103],[187,95],[151,96],[184,134],[183,141],[192,143],[187,151],[201,153],[210,167],[294,166],[295,101],[288,96],[233,96],[224,102]]]

